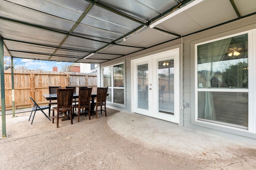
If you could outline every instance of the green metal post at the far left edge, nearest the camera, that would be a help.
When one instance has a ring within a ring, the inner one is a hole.
[[[2,139],[6,138],[5,88],[4,88],[4,40],[0,39],[0,75],[1,75],[1,106],[2,106]]]

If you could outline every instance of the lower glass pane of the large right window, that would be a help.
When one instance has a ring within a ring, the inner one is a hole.
[[[198,92],[198,118],[248,127],[248,93]]]

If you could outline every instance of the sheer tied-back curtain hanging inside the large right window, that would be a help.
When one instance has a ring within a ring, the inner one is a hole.
[[[232,38],[223,39],[220,41],[215,41],[212,43],[198,46],[198,61],[200,61],[201,64],[210,63],[210,68],[201,71],[202,76],[206,80],[205,88],[212,87],[211,80],[215,74],[215,72],[212,70],[212,63],[222,61],[228,50],[228,46],[230,45],[231,39]],[[212,92],[205,92],[204,113],[202,118],[208,120],[216,120]]]

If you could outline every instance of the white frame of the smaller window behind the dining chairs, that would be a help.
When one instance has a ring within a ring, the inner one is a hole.
[[[124,87],[114,87],[114,72],[113,67],[116,65],[124,64]],[[104,85],[104,68],[111,67],[111,87],[108,87],[111,89],[111,102],[107,101],[108,105],[116,106],[116,107],[122,107],[126,108],[126,66],[125,61],[122,62],[116,62],[112,63],[110,65],[104,65],[102,66],[102,86]],[[124,104],[114,103],[114,89],[124,89]]]

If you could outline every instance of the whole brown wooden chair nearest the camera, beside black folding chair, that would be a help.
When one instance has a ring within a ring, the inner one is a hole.
[[[57,128],[59,127],[59,119],[64,117],[69,117],[71,124],[72,120],[72,100],[73,100],[73,88],[60,88],[57,89],[57,107],[52,108],[52,123],[54,119],[57,119]],[[56,111],[56,116],[54,115]],[[68,112],[68,115],[66,113]]]

